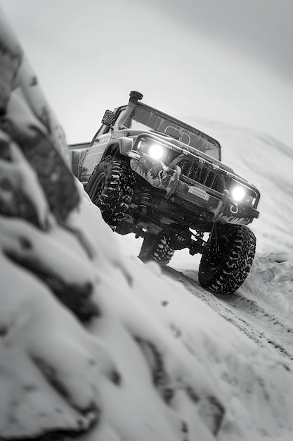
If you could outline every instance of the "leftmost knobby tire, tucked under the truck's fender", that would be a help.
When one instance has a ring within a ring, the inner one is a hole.
[[[86,191],[112,230],[125,217],[134,195],[134,172],[126,159],[108,156],[89,180]]]

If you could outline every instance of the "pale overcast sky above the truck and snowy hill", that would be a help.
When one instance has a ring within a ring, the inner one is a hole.
[[[130,90],[190,121],[293,137],[292,0],[0,0],[68,142]],[[220,140],[221,141],[221,140]]]

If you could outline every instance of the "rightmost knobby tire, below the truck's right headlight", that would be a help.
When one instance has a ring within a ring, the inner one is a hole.
[[[245,225],[216,225],[211,248],[204,251],[198,280],[206,290],[219,296],[233,294],[252,267],[256,237]]]

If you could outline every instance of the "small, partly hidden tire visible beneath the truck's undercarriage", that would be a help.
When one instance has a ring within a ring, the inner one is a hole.
[[[147,235],[143,240],[138,257],[143,262],[153,260],[167,265],[174,256],[174,252],[174,249],[171,249],[169,241],[164,234]]]

